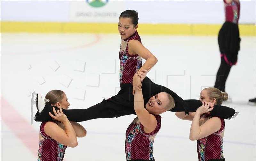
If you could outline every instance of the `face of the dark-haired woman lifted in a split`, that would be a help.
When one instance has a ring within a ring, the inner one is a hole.
[[[138,28],[138,25],[134,26],[132,24],[131,18],[123,18],[123,17],[119,18],[118,31],[122,39],[127,39],[130,36],[132,36],[132,34],[136,32],[137,28]]]

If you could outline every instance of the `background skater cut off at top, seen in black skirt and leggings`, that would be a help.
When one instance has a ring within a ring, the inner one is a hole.
[[[217,72],[215,88],[225,91],[225,84],[232,65],[237,62],[238,51],[240,50],[240,37],[238,19],[240,16],[240,2],[224,0],[225,23],[220,29],[218,43],[220,48],[220,67]]]

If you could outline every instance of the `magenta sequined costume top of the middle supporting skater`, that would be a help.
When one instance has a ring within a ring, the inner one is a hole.
[[[161,128],[161,116],[155,115],[157,125],[154,131],[146,133],[141,123],[133,122],[126,130],[125,153],[126,160],[143,159],[154,160],[153,143],[150,136],[154,136]]]

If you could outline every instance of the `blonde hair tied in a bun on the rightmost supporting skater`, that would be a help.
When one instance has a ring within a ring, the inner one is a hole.
[[[218,88],[209,87],[204,88],[207,91],[209,99],[216,99],[216,104],[221,105],[223,101],[228,100],[228,93],[222,92]]]

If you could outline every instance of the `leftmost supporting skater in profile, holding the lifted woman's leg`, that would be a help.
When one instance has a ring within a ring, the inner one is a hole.
[[[77,122],[68,121],[67,116],[62,113],[63,109],[68,109],[70,105],[66,94],[60,90],[49,91],[45,96],[45,102],[48,105],[54,105],[59,108],[53,113],[49,113],[54,119],[51,121],[44,121],[40,126],[39,133],[39,150],[38,161],[48,160],[63,160],[67,146],[76,147],[76,137],[84,137],[86,130]],[[49,115],[48,114],[48,115]]]

